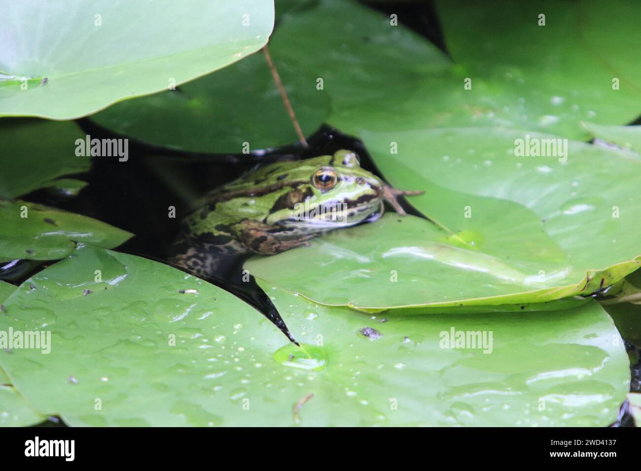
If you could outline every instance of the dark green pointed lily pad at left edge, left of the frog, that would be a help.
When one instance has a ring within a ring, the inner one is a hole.
[[[0,260],[58,260],[76,243],[117,247],[133,234],[89,217],[25,201],[0,200]]]

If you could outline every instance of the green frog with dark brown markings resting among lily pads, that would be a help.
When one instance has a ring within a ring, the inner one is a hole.
[[[183,220],[172,261],[211,276],[229,256],[279,254],[328,231],[372,222],[383,214],[383,201],[404,215],[397,198],[421,193],[385,185],[351,151],[277,161],[206,194]]]

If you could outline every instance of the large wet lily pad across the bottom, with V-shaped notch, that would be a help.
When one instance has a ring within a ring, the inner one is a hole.
[[[383,322],[262,286],[304,350],[215,286],[81,247],[0,317],[50,330],[51,352],[0,361],[38,411],[76,426],[606,426],[628,393],[626,352],[595,302]],[[485,332],[486,347],[445,348],[451,329]]]

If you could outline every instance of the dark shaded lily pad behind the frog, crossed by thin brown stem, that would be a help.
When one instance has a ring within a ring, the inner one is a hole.
[[[272,55],[296,119],[311,135],[329,115],[327,94],[301,86],[297,70]],[[192,152],[240,154],[247,145],[254,151],[297,140],[262,53],[177,90],[123,101],[92,120],[142,142]]]

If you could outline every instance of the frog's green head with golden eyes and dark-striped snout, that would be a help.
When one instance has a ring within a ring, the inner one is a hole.
[[[298,161],[287,179],[300,183],[269,222],[316,232],[354,226],[383,213],[383,182],[363,170],[351,151]]]

